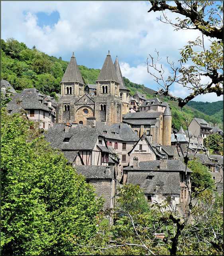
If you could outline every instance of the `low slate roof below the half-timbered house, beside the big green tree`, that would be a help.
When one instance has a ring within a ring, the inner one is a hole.
[[[77,173],[83,174],[87,179],[112,179],[114,166],[75,166]]]

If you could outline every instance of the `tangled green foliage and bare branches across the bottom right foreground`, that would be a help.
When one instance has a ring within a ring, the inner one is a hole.
[[[124,211],[102,211],[101,232],[79,246],[88,248],[92,255],[222,255],[222,203],[213,197],[212,190],[196,189],[194,205],[181,217],[173,198],[150,204],[147,212],[131,210],[141,196],[139,185],[125,184],[120,188],[117,201]],[[192,220],[187,218],[190,215]],[[105,222],[105,216],[111,216],[114,224]],[[155,236],[160,232],[165,234],[163,240]],[[77,244],[72,237],[71,243]]]

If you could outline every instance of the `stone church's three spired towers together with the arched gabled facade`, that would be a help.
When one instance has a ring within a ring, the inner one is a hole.
[[[84,82],[73,55],[61,80],[61,97],[57,103],[57,123],[87,123],[87,118],[106,121],[109,125],[122,122],[129,112],[129,89],[125,87],[118,57],[112,62],[110,51],[96,80],[96,95],[84,93]]]

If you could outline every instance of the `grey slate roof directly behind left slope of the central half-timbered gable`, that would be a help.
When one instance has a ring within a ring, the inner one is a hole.
[[[111,127],[124,141],[138,141],[138,136],[133,132],[128,124],[112,124]],[[121,127],[121,128],[120,128]]]

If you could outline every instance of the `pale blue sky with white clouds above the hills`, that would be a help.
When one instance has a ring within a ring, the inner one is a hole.
[[[149,54],[169,74],[169,60],[178,65],[179,52],[200,33],[179,30],[157,19],[149,1],[1,1],[1,39],[15,38],[28,48],[69,61],[74,52],[78,65],[101,69],[110,50],[118,56],[122,75],[153,90],[161,86],[147,72]],[[175,21],[177,14],[167,11]],[[171,94],[185,98],[190,91],[174,84]],[[214,93],[194,100],[223,100]]]

